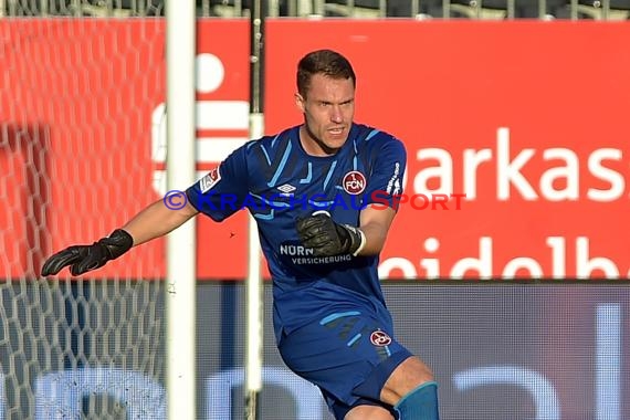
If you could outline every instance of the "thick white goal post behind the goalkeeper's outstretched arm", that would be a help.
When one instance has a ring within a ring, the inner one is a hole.
[[[196,2],[166,6],[167,189],[183,191],[196,180],[195,56]],[[197,418],[196,389],[196,220],[167,238],[168,419]]]

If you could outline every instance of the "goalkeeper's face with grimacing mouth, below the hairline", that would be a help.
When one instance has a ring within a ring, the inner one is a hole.
[[[332,155],[348,138],[355,117],[355,87],[351,78],[332,78],[315,74],[305,97],[295,95],[304,113],[301,138],[313,155]]]

